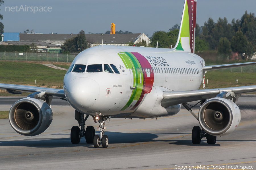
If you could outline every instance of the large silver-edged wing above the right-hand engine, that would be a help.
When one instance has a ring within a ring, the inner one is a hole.
[[[161,101],[161,104],[163,107],[169,107],[181,103],[209,99],[212,97],[216,97],[216,95],[222,92],[233,92],[237,95],[242,93],[251,93],[256,92],[256,86],[241,86],[190,91],[165,91],[163,92],[163,100]]]

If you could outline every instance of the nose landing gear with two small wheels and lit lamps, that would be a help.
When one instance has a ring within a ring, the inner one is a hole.
[[[100,123],[100,126],[97,128],[100,131],[100,136],[95,135],[93,138],[93,146],[94,148],[100,147],[100,144],[102,144],[103,148],[108,147],[108,136],[104,135],[105,133],[105,122],[110,120],[110,116],[104,116],[104,117],[99,117],[99,116],[93,116],[94,122],[96,123],[96,120]]]

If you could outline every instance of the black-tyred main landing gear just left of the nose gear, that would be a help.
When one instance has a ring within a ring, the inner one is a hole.
[[[75,111],[75,120],[78,121],[78,124],[81,127],[81,129],[78,126],[73,126],[71,128],[71,133],[70,133],[71,143],[78,144],[82,137],[85,138],[86,143],[93,143],[93,139],[95,136],[94,127],[87,126],[85,129],[85,121],[87,120],[88,117],[89,115],[86,115],[86,117],[84,118],[84,114],[78,111]]]

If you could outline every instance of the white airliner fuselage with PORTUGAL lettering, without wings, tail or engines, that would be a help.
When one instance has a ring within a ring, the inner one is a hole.
[[[99,71],[91,71],[100,64]],[[174,49],[105,45],[84,50],[72,65],[63,88],[77,111],[154,118],[179,112],[180,105],[161,106],[162,92],[199,89],[205,62],[193,53]],[[75,71],[80,66],[85,70]]]

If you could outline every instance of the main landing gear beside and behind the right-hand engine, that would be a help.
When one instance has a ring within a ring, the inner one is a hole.
[[[197,104],[203,104],[205,103],[206,100],[201,100],[199,101]],[[191,114],[198,120],[197,115],[195,115],[195,113],[191,110],[192,107],[195,107],[197,104],[195,104],[194,106],[189,107],[187,105],[187,103],[182,103],[182,105],[189,111],[191,112]],[[192,143],[193,144],[200,144],[201,143],[201,139],[203,139],[204,137],[206,137],[207,139],[207,143],[209,145],[214,145],[216,143],[216,136],[210,135],[208,133],[206,133],[203,129],[201,129],[199,126],[194,126],[192,129]]]

